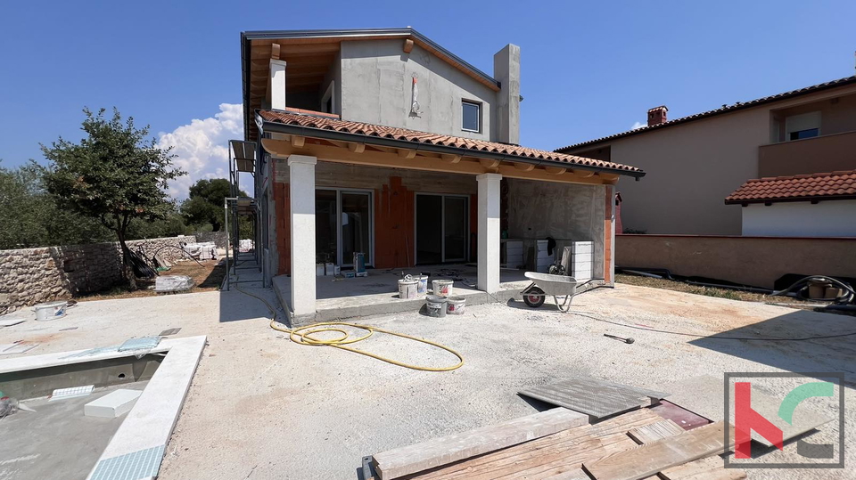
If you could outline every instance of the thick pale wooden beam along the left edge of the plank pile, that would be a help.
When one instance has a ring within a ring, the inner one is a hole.
[[[497,425],[475,428],[378,453],[374,455],[374,469],[383,480],[390,480],[587,423],[588,417],[575,411],[540,411]]]

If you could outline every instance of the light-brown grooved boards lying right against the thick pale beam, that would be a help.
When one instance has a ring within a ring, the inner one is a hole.
[[[597,425],[574,427],[531,442],[521,443],[498,452],[460,461],[417,476],[419,480],[492,480],[498,475],[511,475],[528,468],[540,468],[539,475],[562,473],[580,468],[583,460],[597,460],[610,453],[637,445],[625,434],[628,428],[649,425],[662,420],[648,410],[631,411]],[[577,452],[577,453],[574,453]],[[576,454],[578,456],[574,457]]]

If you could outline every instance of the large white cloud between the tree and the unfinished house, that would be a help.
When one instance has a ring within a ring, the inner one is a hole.
[[[220,103],[213,117],[194,118],[169,133],[161,132],[158,146],[173,147],[176,167],[187,172],[169,183],[169,196],[185,199],[190,186],[202,178],[229,177],[229,140],[243,140],[243,110],[240,103]],[[246,178],[244,178],[246,177]],[[250,175],[242,175],[244,191],[251,187]]]

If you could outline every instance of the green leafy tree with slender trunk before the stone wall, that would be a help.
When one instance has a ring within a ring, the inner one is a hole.
[[[83,110],[86,136],[79,143],[61,137],[50,147],[42,145],[45,159],[52,162],[43,170],[45,187],[61,199],[62,207],[94,218],[116,234],[126,277],[134,287],[128,226],[166,218],[171,208],[167,182],[185,172],[172,167],[169,150],[147,138],[148,126],[136,128],[130,117],[122,121],[116,109],[110,119],[104,118],[104,111]]]

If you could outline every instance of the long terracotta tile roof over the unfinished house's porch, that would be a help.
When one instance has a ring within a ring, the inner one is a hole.
[[[616,170],[616,173],[619,174],[621,172],[632,172],[633,174],[645,175],[644,172],[642,172],[642,170],[637,167],[630,167],[628,165],[621,165],[618,163],[607,162],[604,160],[587,159],[584,157],[578,157],[576,155],[557,153],[555,151],[536,150],[527,147],[521,147],[519,145],[510,145],[499,142],[486,142],[484,140],[474,140],[471,138],[463,138],[443,134],[429,134],[416,130],[408,130],[407,128],[373,125],[361,122],[351,122],[335,118],[322,118],[312,115],[302,115],[299,113],[283,110],[257,110],[257,114],[266,122],[281,123],[284,125],[304,126],[309,128],[318,128],[321,130],[334,130],[336,132],[342,132],[347,134],[363,134],[367,136],[391,138],[406,142],[440,145],[469,151],[485,151],[529,159],[544,159],[554,162],[576,165],[580,167],[611,169]],[[475,153],[473,153],[473,156],[476,156]]]

